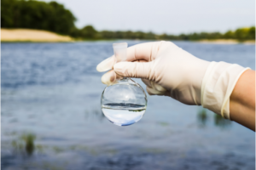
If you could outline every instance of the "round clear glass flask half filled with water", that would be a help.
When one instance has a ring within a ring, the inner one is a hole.
[[[113,52],[117,62],[126,59],[127,43],[114,43]],[[102,112],[110,122],[128,126],[138,122],[147,108],[147,95],[143,88],[130,78],[124,77],[102,92]]]

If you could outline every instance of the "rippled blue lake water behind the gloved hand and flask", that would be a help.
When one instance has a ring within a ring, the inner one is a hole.
[[[112,43],[2,43],[2,169],[255,169],[255,133],[199,106],[148,96],[139,122],[108,122],[96,65]],[[255,69],[254,45],[175,43]]]

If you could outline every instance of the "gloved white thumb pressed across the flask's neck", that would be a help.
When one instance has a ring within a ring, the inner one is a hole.
[[[151,62],[119,62],[113,65],[115,71],[121,77],[136,77],[149,79]]]

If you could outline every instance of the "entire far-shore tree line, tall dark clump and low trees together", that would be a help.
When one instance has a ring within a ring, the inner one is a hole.
[[[34,0],[2,0],[1,27],[30,28],[54,31],[78,39],[141,39],[141,40],[201,40],[201,39],[236,39],[239,41],[255,40],[255,26],[239,28],[236,31],[199,32],[180,35],[154,34],[143,31],[96,31],[93,26],[79,29],[75,26],[76,18],[70,10],[56,2]]]

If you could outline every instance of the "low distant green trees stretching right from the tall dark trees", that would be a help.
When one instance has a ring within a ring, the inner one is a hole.
[[[239,28],[236,31],[221,32],[200,32],[180,35],[154,34],[153,32],[143,31],[96,31],[93,26],[85,26],[78,30],[73,37],[84,37],[88,39],[141,39],[141,40],[190,40],[201,39],[236,39],[239,41],[254,40],[255,26],[249,28]]]

